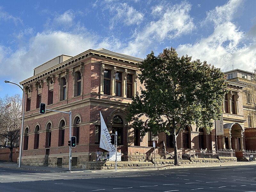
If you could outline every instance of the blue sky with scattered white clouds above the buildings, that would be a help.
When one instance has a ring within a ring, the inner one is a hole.
[[[255,0],[2,0],[0,97],[22,94],[33,69],[105,48],[142,59],[166,47],[222,71],[256,68]]]

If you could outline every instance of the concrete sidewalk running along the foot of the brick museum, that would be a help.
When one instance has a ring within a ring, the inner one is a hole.
[[[252,162],[227,162],[227,163],[193,163],[193,164],[180,164],[179,166],[174,165],[156,165],[151,167],[131,167],[131,168],[120,168],[117,167],[118,172],[124,171],[147,171],[147,170],[163,170],[163,169],[173,169],[173,168],[192,168],[192,167],[219,167],[219,166],[243,166],[243,165],[253,165],[256,166],[256,161]],[[68,168],[61,167],[46,167],[46,166],[30,166],[21,165],[18,167],[16,162],[10,163],[6,161],[0,161],[0,167],[12,168],[12,169],[24,169],[32,171],[42,171],[42,172],[69,172]],[[84,170],[72,168],[71,172],[104,172],[104,171],[115,171],[114,169],[107,170]]]

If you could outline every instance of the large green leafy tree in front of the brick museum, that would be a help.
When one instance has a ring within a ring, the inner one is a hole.
[[[139,64],[140,88],[129,105],[127,120],[139,129],[141,138],[148,131],[173,136],[174,164],[179,165],[176,138],[187,124],[204,127],[209,133],[212,120],[220,119],[226,93],[225,75],[200,60],[164,49],[158,56],[151,52]],[[145,124],[145,119],[148,119]]]

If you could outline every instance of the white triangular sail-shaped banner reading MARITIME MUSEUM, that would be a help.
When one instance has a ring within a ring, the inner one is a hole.
[[[100,148],[109,152],[116,152],[116,148],[111,144],[110,134],[100,112]]]

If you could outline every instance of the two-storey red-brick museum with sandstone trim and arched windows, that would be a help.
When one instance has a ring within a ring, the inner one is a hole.
[[[20,82],[26,92],[22,164],[68,167],[69,115],[47,110],[41,115],[41,102],[46,103],[46,109],[72,111],[72,135],[77,138],[72,157],[77,166],[86,167],[89,152],[103,151],[99,148],[99,108],[109,132],[117,131],[118,151],[152,152],[152,134],[148,132],[140,141],[140,132],[125,120],[128,103],[142,86],[138,79],[140,61],[106,49],[90,49],[74,57],[60,55],[35,68],[34,76]],[[214,127],[206,134],[204,128],[187,125],[178,135],[179,150],[242,151],[246,124],[244,87],[236,82],[228,84],[229,93],[223,100],[224,135],[217,137],[217,146]],[[171,136],[159,133],[158,138],[157,150],[162,149],[164,142],[166,150],[173,151]]]

